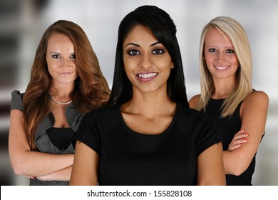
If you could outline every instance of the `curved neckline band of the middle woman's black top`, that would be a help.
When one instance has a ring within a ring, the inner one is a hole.
[[[173,116],[173,119],[172,119],[172,121],[171,121],[171,123],[169,124],[169,126],[163,131],[163,132],[161,132],[160,134],[142,134],[142,133],[139,133],[139,132],[137,132],[137,131],[133,131],[133,129],[130,129],[130,127],[127,125],[127,124],[125,124],[125,121],[123,120],[123,115],[121,114],[121,112],[120,112],[120,106],[121,105],[118,105],[118,108],[117,108],[117,114],[118,114],[118,117],[119,117],[119,119],[120,119],[120,124],[122,124],[123,125],[123,127],[124,127],[124,129],[126,130],[126,131],[128,131],[128,133],[130,133],[131,135],[133,135],[133,136],[140,136],[140,137],[145,137],[145,138],[155,138],[155,137],[160,137],[160,136],[163,136],[163,135],[165,135],[165,134],[167,134],[168,132],[170,132],[170,129],[172,129],[172,126],[173,126],[173,124],[175,124],[175,121],[176,121],[176,119],[177,119],[177,112],[178,112],[178,110],[180,109],[180,104],[177,102],[176,103],[176,109],[175,109],[175,114],[174,114],[174,116]]]

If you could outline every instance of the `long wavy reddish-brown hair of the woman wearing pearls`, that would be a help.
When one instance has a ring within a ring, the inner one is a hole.
[[[68,36],[76,53],[75,88],[71,94],[73,104],[85,114],[105,104],[110,95],[108,83],[98,64],[98,58],[83,29],[71,21],[59,20],[44,32],[34,58],[31,79],[24,94],[24,125],[31,149],[36,149],[34,136],[38,124],[49,114],[51,75],[46,64],[48,39],[53,34]]]

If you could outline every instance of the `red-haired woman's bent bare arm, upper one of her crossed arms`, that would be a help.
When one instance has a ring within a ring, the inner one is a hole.
[[[45,154],[31,151],[24,129],[22,111],[13,109],[10,115],[9,156],[15,174],[43,176],[73,164],[73,154]]]

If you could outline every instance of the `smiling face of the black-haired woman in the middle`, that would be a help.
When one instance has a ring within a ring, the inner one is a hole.
[[[167,89],[167,80],[174,65],[167,49],[150,29],[137,25],[123,41],[125,72],[133,91]]]

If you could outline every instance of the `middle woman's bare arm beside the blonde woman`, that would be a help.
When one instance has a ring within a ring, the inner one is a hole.
[[[226,185],[222,143],[214,144],[198,156],[197,185]]]

